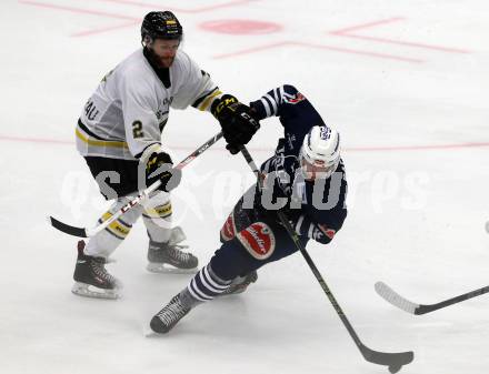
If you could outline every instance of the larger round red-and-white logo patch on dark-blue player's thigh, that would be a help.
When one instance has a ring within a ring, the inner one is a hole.
[[[273,232],[263,222],[256,222],[238,233],[238,239],[257,260],[271,256],[276,246]]]

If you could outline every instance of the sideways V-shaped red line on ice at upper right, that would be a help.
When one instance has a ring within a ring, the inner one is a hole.
[[[430,49],[430,50],[437,50],[442,52],[449,52],[449,53],[470,53],[470,51],[459,49],[459,48],[450,48],[450,47],[442,47],[442,46],[433,46],[433,44],[426,44],[426,43],[418,43],[418,42],[410,42],[410,41],[402,41],[402,40],[395,40],[395,39],[388,39],[388,38],[377,38],[377,37],[369,37],[369,36],[360,36],[357,33],[352,33],[352,31],[369,29],[372,27],[377,27],[380,24],[397,22],[397,21],[403,21],[406,20],[402,17],[395,17],[389,18],[386,20],[379,20],[373,21],[369,23],[362,23],[358,26],[353,26],[346,29],[335,30],[330,31],[330,34],[337,36],[337,37],[345,37],[345,38],[352,38],[352,39],[362,39],[362,40],[369,40],[380,43],[389,43],[389,44],[398,44],[398,46],[405,46],[405,47],[413,47],[413,48],[422,48],[422,49]]]

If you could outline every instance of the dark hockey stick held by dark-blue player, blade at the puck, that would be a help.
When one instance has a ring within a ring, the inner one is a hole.
[[[255,163],[253,159],[251,158],[250,153],[248,152],[248,150],[244,146],[242,146],[241,153],[244,156],[244,159],[247,160],[248,165],[251,168],[253,173],[257,175],[259,188],[261,190],[262,178],[261,178],[260,172],[257,168],[257,164]],[[343,311],[341,310],[337,300],[335,299],[333,294],[331,293],[331,290],[326,284],[325,279],[322,277],[318,267],[313,263],[309,253],[306,251],[306,247],[300,242],[299,235],[296,233],[296,231],[290,225],[289,220],[287,220],[287,216],[282,212],[278,211],[277,213],[280,219],[280,222],[286,228],[290,237],[293,240],[293,243],[296,244],[296,246],[299,249],[300,253],[305,257],[306,262],[308,263],[309,267],[311,269],[312,273],[315,274],[316,279],[318,280],[319,284],[321,285],[322,291],[325,291],[326,295],[328,296],[329,301],[331,302],[332,306],[335,307],[335,311],[337,312],[337,314],[340,317],[341,322],[343,323],[345,327],[347,327],[348,333],[353,338],[355,344],[357,344],[357,347],[360,350],[360,353],[362,354],[363,358],[370,363],[373,363],[373,364],[388,366],[390,373],[397,373],[401,370],[401,367],[403,365],[411,363],[412,360],[415,358],[415,354],[411,351],[410,352],[399,352],[399,353],[378,352],[378,351],[370,350],[368,346],[366,346],[360,341],[360,338],[358,337],[353,327],[351,326],[350,322],[348,321],[346,314],[343,313]]]

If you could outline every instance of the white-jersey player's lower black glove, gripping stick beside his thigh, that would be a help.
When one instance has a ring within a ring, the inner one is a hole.
[[[160,180],[158,190],[170,192],[181,181],[181,170],[173,169],[173,162],[168,153],[152,152],[146,164],[146,185],[150,186]]]

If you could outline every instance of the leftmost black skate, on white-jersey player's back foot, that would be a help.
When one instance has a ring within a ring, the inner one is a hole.
[[[120,282],[110,275],[104,265],[104,257],[90,256],[83,253],[84,242],[78,242],[78,257],[74,266],[74,284],[71,292],[87,297],[118,299]]]

